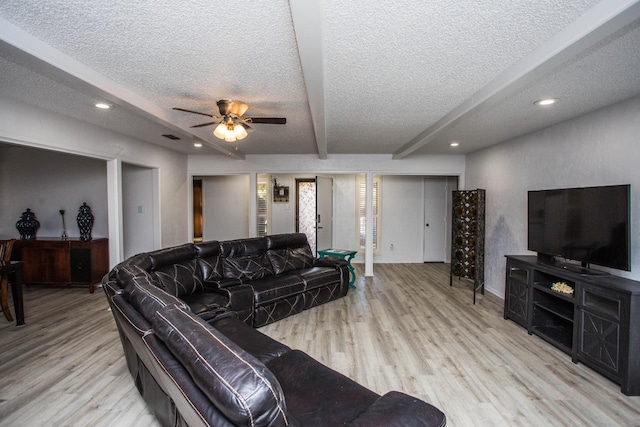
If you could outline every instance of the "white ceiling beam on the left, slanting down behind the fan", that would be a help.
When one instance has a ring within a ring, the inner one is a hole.
[[[241,151],[230,150],[229,147],[218,144],[213,140],[213,137],[211,140],[202,138],[189,128],[173,123],[165,109],[54,49],[2,18],[0,18],[0,52],[9,53],[10,57],[19,57],[38,73],[53,75],[73,90],[123,107],[171,131],[182,134],[186,139],[201,141],[231,158],[241,160],[245,157]],[[160,135],[158,136],[160,137]]]

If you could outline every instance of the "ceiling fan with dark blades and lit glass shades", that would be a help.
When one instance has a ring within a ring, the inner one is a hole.
[[[217,103],[220,115],[201,113],[199,111],[186,110],[184,108],[174,107],[174,110],[184,111],[185,113],[199,114],[201,116],[207,116],[214,119],[211,122],[201,123],[199,125],[191,126],[192,128],[200,128],[204,126],[218,125],[213,131],[213,134],[220,139],[224,139],[227,142],[237,142],[247,137],[247,130],[252,130],[249,123],[255,124],[279,124],[283,125],[287,123],[287,119],[284,117],[242,117],[242,115],[249,109],[249,105],[241,101],[234,101],[231,99],[221,99]],[[236,145],[236,150],[238,146]]]

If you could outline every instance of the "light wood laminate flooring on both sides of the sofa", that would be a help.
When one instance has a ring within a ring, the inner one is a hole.
[[[472,304],[448,264],[377,264],[346,298],[260,329],[383,394],[443,410],[448,426],[640,426],[640,397]],[[0,315],[0,426],[157,426],[126,368],[101,289],[25,289],[26,325]]]

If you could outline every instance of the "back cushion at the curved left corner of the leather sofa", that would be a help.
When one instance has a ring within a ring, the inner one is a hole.
[[[118,280],[124,285],[124,298],[149,322],[158,310],[168,305],[188,308],[184,302],[160,289],[155,275],[138,266],[121,268],[118,271]]]

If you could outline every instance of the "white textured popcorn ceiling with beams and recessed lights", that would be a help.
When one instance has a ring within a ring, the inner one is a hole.
[[[3,0],[0,18],[0,95],[191,154],[468,153],[640,94],[637,1]],[[234,151],[172,110],[221,98],[287,124]]]

